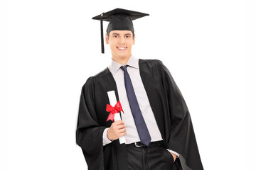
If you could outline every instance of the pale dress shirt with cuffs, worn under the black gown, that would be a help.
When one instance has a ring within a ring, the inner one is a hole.
[[[127,72],[129,73],[129,77],[131,78],[132,86],[134,87],[134,92],[137,97],[137,101],[139,103],[139,108],[142,111],[142,116],[145,120],[146,127],[149,130],[149,134],[151,136],[151,142],[163,140],[161,137],[159,128],[156,124],[156,119],[151,109],[149,98],[146,94],[146,90],[142,83],[142,78],[140,77],[140,74],[139,74],[139,59],[131,56],[127,62],[127,65],[129,65],[129,67],[127,67]],[[110,72],[114,77],[114,81],[117,84],[119,101],[124,111],[124,114],[122,113],[122,120],[124,121],[124,125],[126,125],[125,129],[127,130],[127,135],[125,135],[125,140],[126,140],[125,144],[131,144],[134,142],[139,142],[140,139],[139,139],[139,134],[137,132],[137,128],[134,123],[132,111],[129,106],[127,92],[124,85],[124,71],[120,68],[121,66],[122,64],[119,64],[118,62],[114,62],[114,60],[112,60],[108,68],[110,69]],[[103,146],[112,142],[107,138],[108,129],[109,128],[106,128],[103,132]],[[179,156],[178,153],[172,150],[169,150],[169,151]]]

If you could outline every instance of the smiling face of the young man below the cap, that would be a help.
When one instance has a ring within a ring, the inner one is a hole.
[[[110,37],[107,38],[106,43],[110,45],[112,58],[115,60],[124,60],[132,55],[132,45],[135,44],[135,36],[132,38],[132,31],[130,30],[112,30]]]

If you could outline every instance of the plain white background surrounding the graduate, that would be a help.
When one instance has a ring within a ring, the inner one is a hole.
[[[133,55],[169,68],[204,168],[253,169],[255,7],[236,0],[1,1],[0,169],[87,169],[80,91],[111,60],[91,18],[117,7],[150,14],[134,21]]]

